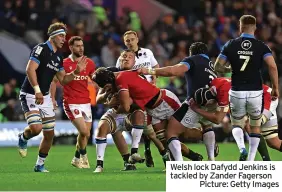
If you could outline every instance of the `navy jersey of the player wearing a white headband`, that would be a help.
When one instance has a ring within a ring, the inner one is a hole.
[[[42,94],[49,94],[50,85],[55,74],[58,71],[64,70],[63,57],[58,51],[54,53],[50,41],[46,41],[32,49],[29,59],[39,65],[36,69],[36,76]],[[27,76],[22,84],[21,91],[35,94]]]

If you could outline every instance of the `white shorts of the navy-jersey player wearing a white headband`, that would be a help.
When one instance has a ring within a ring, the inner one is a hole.
[[[54,106],[50,94],[43,96],[43,104],[37,105],[35,103],[35,95],[20,92],[20,101],[24,113],[30,111],[39,111],[41,118],[55,117]]]

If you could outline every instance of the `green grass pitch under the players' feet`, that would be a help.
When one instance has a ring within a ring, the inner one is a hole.
[[[203,144],[189,145],[205,156]],[[165,191],[165,172],[161,157],[155,147],[154,168],[138,164],[137,171],[122,172],[123,161],[115,146],[108,146],[105,154],[104,172],[94,174],[95,147],[89,146],[91,169],[76,169],[70,165],[74,146],[54,146],[46,160],[50,173],[34,173],[37,158],[36,147],[28,149],[28,156],[20,158],[16,148],[0,148],[0,190],[64,190],[64,191]],[[143,151],[141,146],[140,150]],[[272,160],[282,160],[282,153],[269,149]],[[238,149],[234,144],[221,144],[217,160],[237,160]],[[257,158],[260,160],[260,158]]]

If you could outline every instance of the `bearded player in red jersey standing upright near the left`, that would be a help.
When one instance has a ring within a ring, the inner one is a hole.
[[[64,59],[63,65],[67,73],[72,72],[77,61],[84,57],[83,40],[79,36],[73,36],[69,40],[71,55]],[[79,134],[77,137],[76,151],[71,164],[78,168],[90,168],[86,145],[90,137],[92,125],[92,113],[88,87],[88,78],[92,78],[95,72],[95,64],[87,58],[87,66],[84,71],[74,78],[74,81],[64,85],[63,105],[64,111]]]

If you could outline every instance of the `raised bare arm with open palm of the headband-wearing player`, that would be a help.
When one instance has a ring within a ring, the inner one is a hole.
[[[76,69],[71,72],[71,73],[66,73],[64,68],[61,67],[59,69],[59,71],[56,73],[56,77],[58,78],[59,82],[61,83],[61,85],[66,85],[69,82],[71,82],[72,80],[74,80],[74,78],[80,74],[81,71],[83,71],[86,68],[87,65],[87,60],[86,57],[82,57],[77,65],[76,65]]]

